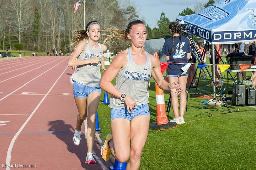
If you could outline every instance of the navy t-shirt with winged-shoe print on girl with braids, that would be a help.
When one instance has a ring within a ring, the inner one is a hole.
[[[174,38],[174,50],[172,49],[172,37],[165,40],[164,46],[162,48],[162,53],[169,55],[168,62],[181,62],[187,63],[187,53],[191,52],[189,39],[181,35],[181,49],[179,47],[179,37]],[[169,64],[167,67],[168,75],[180,75],[183,71],[181,68],[186,64]]]

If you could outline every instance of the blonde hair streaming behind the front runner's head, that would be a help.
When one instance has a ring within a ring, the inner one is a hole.
[[[144,21],[135,20],[128,24],[126,29],[118,29],[116,27],[110,27],[110,28],[104,28],[102,31],[106,31],[109,34],[103,34],[103,36],[106,36],[107,38],[103,41],[103,44],[119,44],[122,41],[129,40],[127,38],[127,34],[130,33],[130,30],[132,29],[132,26],[137,24],[144,24]]]

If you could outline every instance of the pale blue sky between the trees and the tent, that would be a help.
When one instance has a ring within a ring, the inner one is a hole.
[[[136,6],[139,19],[142,19],[150,26],[150,28],[158,27],[157,22],[161,13],[170,21],[176,20],[178,13],[187,7],[194,9],[194,5],[198,3],[206,4],[209,0],[130,0]]]

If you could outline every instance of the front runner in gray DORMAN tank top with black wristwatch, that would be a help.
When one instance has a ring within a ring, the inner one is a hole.
[[[127,170],[138,170],[149,128],[147,88],[150,77],[163,90],[180,94],[183,89],[177,82],[167,83],[159,61],[144,50],[147,32],[143,21],[130,22],[126,30],[110,31],[114,34],[105,42],[130,40],[131,46],[113,59],[101,78],[100,87],[112,94],[109,105],[112,134],[107,135],[101,155],[108,160],[112,153],[122,163],[130,158]],[[113,86],[111,81],[115,77],[116,86]]]

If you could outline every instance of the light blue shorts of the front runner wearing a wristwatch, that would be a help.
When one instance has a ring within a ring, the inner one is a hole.
[[[130,113],[128,113],[127,108],[122,108],[122,109],[111,108],[111,120],[116,118],[123,118],[130,121],[134,117],[140,116],[140,115],[148,115],[150,117],[148,104],[137,105],[133,109],[133,113],[131,111]]]

